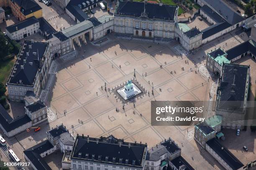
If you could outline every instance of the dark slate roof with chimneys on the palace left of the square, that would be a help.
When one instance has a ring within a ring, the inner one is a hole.
[[[29,49],[29,45],[31,45],[31,49]],[[23,51],[23,55],[20,55],[21,52],[18,54],[18,59],[13,66],[8,84],[13,83],[33,86],[36,73],[38,72],[38,69],[41,69],[39,61],[41,61],[44,56],[47,47],[48,43],[46,42],[31,42],[30,40],[24,40],[20,49]],[[27,52],[29,56],[26,55]],[[34,55],[33,52],[36,52],[36,55]],[[24,62],[25,59],[26,62]],[[21,67],[22,65],[23,68]]]

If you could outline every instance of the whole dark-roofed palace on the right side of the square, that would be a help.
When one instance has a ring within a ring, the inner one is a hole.
[[[246,117],[250,66],[224,63],[216,99],[216,114],[223,117],[223,128],[241,129]]]

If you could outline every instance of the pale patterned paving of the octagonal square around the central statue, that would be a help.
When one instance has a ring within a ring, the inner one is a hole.
[[[51,87],[50,90],[41,94],[50,107],[47,112],[49,124],[41,126],[40,133],[63,123],[75,136],[114,135],[127,142],[147,143],[148,148],[170,137],[182,148],[182,156],[195,169],[222,169],[208,153],[200,152],[200,146],[192,140],[193,126],[172,123],[170,126],[151,126],[151,101],[208,100],[213,81],[196,72],[205,62],[197,61],[195,67],[192,58],[181,56],[174,48],[177,42],[157,44],[123,40],[113,35],[108,37],[110,43],[101,46],[87,43],[74,52],[76,57],[73,53],[54,60],[50,73],[54,75],[56,72],[56,76],[53,80],[49,78],[47,88]],[[185,60],[189,62],[185,63]],[[134,105],[128,103],[123,109],[122,103],[108,89],[133,79],[134,69],[136,80],[149,94],[136,98]],[[66,114],[64,110],[67,110]],[[18,137],[25,148],[38,143],[37,134],[26,143],[28,135]],[[41,138],[46,135],[38,137]]]

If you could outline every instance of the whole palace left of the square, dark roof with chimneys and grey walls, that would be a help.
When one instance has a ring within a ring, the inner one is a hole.
[[[8,78],[9,100],[22,101],[27,91],[38,97],[46,85],[51,60],[49,43],[25,40]]]

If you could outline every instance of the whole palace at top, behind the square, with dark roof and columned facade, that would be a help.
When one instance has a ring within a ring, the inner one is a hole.
[[[137,11],[133,10],[133,6],[138,7]],[[114,31],[138,37],[174,39],[177,11],[177,6],[161,3],[118,1],[114,13]]]

